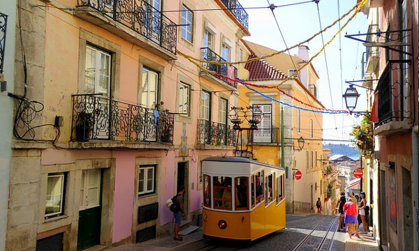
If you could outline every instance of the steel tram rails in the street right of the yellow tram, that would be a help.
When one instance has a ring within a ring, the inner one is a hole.
[[[330,222],[328,229],[326,231],[326,233],[324,234],[323,238],[321,238],[320,243],[318,243],[318,245],[316,246],[316,251],[330,251],[332,249],[332,245],[333,245],[333,238],[336,234],[336,230],[337,227],[335,227],[335,230],[332,230],[333,226],[336,225],[338,218],[335,216],[331,216],[328,218],[323,218],[323,220],[321,220],[320,222],[317,223],[316,226],[314,226],[314,228],[309,232],[309,234],[307,234],[307,236],[305,236],[302,241],[300,241],[300,243],[297,244],[297,246],[293,249],[293,251],[299,251],[299,250],[306,250],[307,247],[307,243],[309,243],[309,238],[314,237],[314,232],[315,231],[322,231],[320,229],[321,223],[325,222],[325,220],[328,220],[332,218],[332,222]],[[328,236],[330,235],[330,233],[332,233],[332,237],[330,238],[330,241],[328,239]],[[318,241],[316,241],[318,242]],[[327,247],[325,247],[325,244],[328,243]]]

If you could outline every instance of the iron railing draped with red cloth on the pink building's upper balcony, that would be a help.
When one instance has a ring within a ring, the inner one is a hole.
[[[201,56],[202,56],[202,59],[205,61],[216,61],[220,63],[226,62],[226,60],[224,60],[219,54],[216,54],[208,47],[201,48]],[[228,76],[231,79],[235,79],[235,77],[237,76],[237,68],[228,64],[219,65],[219,64],[214,64],[214,63],[202,63],[202,66],[203,68],[207,70],[213,70],[214,72],[219,73],[223,76]],[[226,79],[225,77],[219,77],[219,76],[215,76],[215,77],[223,80],[228,85],[233,86],[234,88],[237,88],[237,82]]]

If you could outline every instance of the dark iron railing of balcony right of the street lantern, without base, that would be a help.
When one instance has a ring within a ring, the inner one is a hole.
[[[410,78],[405,76],[411,68],[404,61],[388,62],[378,80],[378,123],[375,127],[391,121],[404,121],[412,118],[409,103],[412,95]]]

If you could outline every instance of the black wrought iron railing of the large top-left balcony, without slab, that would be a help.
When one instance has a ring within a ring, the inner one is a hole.
[[[144,0],[79,0],[176,54],[177,26]]]

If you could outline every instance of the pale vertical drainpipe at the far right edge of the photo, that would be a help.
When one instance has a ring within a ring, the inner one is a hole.
[[[419,137],[418,137],[418,126],[414,126],[412,129],[412,160],[413,160],[413,209],[415,216],[413,217],[413,222],[416,229],[416,234],[413,234],[413,249],[418,250],[418,232],[419,232],[419,177],[418,177],[418,168],[419,168]]]

